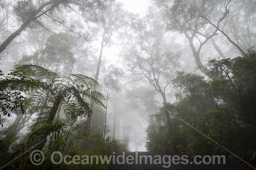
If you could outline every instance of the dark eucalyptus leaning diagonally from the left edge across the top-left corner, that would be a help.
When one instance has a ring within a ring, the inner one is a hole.
[[[0,54],[7,48],[12,41],[17,38],[22,31],[24,31],[27,27],[35,28],[40,25],[43,26],[43,23],[40,21],[40,17],[43,15],[47,15],[49,17],[53,16],[53,13],[56,9],[70,9],[74,10],[74,8],[78,7],[78,10],[83,10],[88,14],[92,14],[92,12],[100,7],[103,7],[103,4],[106,0],[21,0],[16,3],[14,6],[14,11],[22,22],[19,28],[12,32],[8,38],[6,38],[0,44]],[[58,21],[58,20],[56,20]],[[64,24],[64,22],[59,22]],[[72,30],[70,28],[70,30]]]

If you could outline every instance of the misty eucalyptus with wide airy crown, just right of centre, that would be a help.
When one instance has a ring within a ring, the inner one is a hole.
[[[152,12],[152,11],[151,11]],[[130,19],[131,32],[123,34],[127,37],[123,42],[123,60],[130,68],[133,80],[146,79],[161,94],[163,105],[167,104],[166,93],[179,68],[179,55],[164,48],[164,26],[154,13],[146,17]],[[170,125],[169,113],[165,113],[167,124]]]

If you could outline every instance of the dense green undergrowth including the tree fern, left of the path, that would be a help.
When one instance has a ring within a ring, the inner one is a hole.
[[[90,77],[74,74],[65,79],[37,65],[17,66],[9,76],[2,78],[0,104],[3,115],[10,116],[11,113],[7,110],[13,112],[17,111],[19,107],[23,113],[36,113],[37,118],[33,126],[29,128],[29,132],[22,137],[17,136],[18,124],[15,123],[1,131],[1,165],[7,164],[14,158],[19,158],[14,159],[9,168],[31,168],[27,155],[35,149],[44,151],[46,155],[51,155],[53,151],[62,151],[62,154],[66,155],[82,155],[78,150],[81,147],[82,137],[88,135],[83,131],[86,122],[81,121],[78,124],[75,122],[78,118],[91,116],[92,110],[87,99],[93,99],[97,105],[105,107],[101,102],[104,100],[104,96],[91,90],[97,85],[98,82]],[[30,97],[24,97],[21,92]],[[65,118],[60,117],[61,109],[66,115]],[[96,121],[100,122],[99,119]],[[113,151],[126,151],[127,146],[110,136],[104,139],[102,132],[103,128],[96,126],[90,133],[89,149],[86,154],[109,155]],[[11,152],[9,152],[10,149]],[[21,160],[25,160],[25,162]],[[42,168],[54,166],[49,162],[48,160],[42,164]],[[56,168],[63,169],[65,164],[63,166]],[[85,168],[88,168],[87,166]],[[93,165],[90,167],[95,168]],[[98,168],[104,167],[105,165],[99,165]],[[72,167],[67,166],[66,168]]]

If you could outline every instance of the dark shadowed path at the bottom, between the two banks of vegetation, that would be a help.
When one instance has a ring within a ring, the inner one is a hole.
[[[138,152],[138,157],[140,155],[146,155],[149,156],[151,155],[154,159],[155,155],[160,155],[161,157],[164,156],[164,154],[158,154],[158,153],[154,153],[154,152]],[[126,152],[125,153],[125,157],[134,157],[135,160],[135,152]],[[116,155],[117,157],[117,155]],[[120,158],[120,160],[122,160]],[[137,159],[138,163],[139,163],[139,158]],[[166,161],[168,161],[168,158],[166,158]],[[131,162],[131,161],[130,161]],[[149,158],[148,158],[148,164],[145,164],[144,158],[142,159],[142,164],[113,164],[110,168],[110,170],[243,170],[241,168],[237,168],[237,167],[232,167],[232,166],[228,166],[228,165],[196,165],[196,164],[190,164],[193,163],[193,160],[189,160],[189,164],[187,165],[182,165],[182,164],[178,164],[178,165],[174,165],[171,164],[171,166],[169,168],[164,168],[163,165],[164,164],[149,164]],[[165,163],[165,165],[168,166],[168,163]]]

